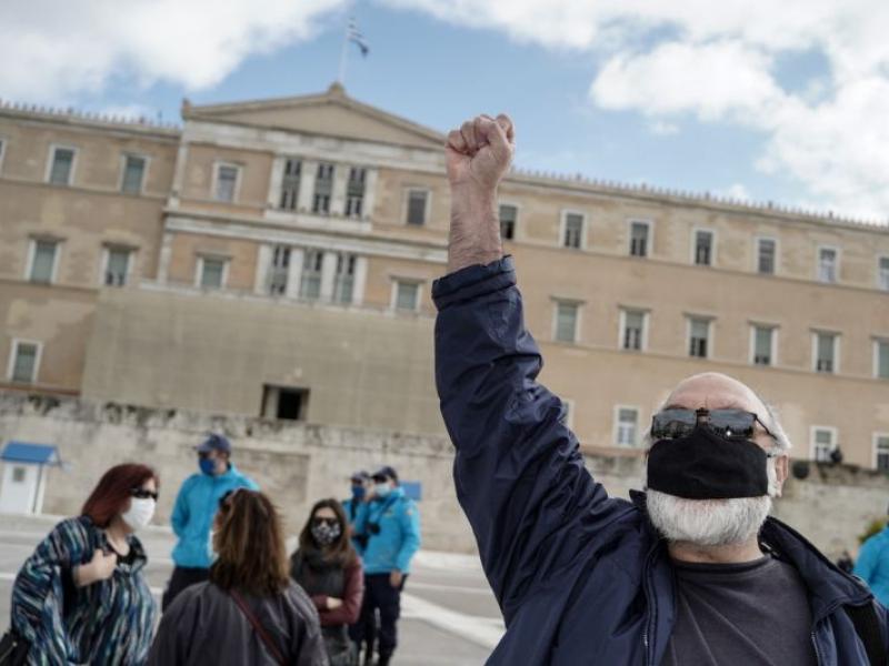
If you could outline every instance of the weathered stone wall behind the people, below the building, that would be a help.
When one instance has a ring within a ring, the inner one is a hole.
[[[444,437],[0,393],[0,440],[56,444],[66,462],[50,472],[44,513],[77,513],[106,468],[136,461],[160,473],[156,522],[166,523],[179,485],[197,470],[191,448],[209,431],[232,440],[234,463],[274,498],[291,535],[313,501],[347,494],[350,472],[389,464],[403,480],[422,483],[424,547],[475,548],[455,496],[452,450]],[[588,456],[587,465],[612,495],[626,497],[642,485],[638,455]],[[836,557],[843,548],[855,552],[858,535],[885,515],[888,501],[883,473],[811,464],[807,478],[788,480],[775,515]]]

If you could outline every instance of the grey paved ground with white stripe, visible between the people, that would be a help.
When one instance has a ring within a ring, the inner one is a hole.
[[[53,519],[0,514],[0,632],[9,625],[16,572]],[[149,556],[149,584],[159,595],[169,577],[172,535],[140,533]],[[393,666],[478,666],[503,630],[500,613],[476,557],[421,552],[402,596],[400,647]]]

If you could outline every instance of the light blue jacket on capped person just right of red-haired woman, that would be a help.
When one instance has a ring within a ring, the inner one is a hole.
[[[173,548],[176,566],[209,568],[212,562],[210,527],[213,524],[219,500],[234,488],[258,491],[252,478],[229,465],[228,472],[219,476],[192,474],[179,488],[170,522],[179,541]]]

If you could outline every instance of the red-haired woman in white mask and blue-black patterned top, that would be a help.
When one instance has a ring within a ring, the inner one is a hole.
[[[12,588],[12,633],[28,664],[146,663],[157,607],[133,533],[149,524],[157,500],[151,467],[117,465],[81,515],[37,546]]]

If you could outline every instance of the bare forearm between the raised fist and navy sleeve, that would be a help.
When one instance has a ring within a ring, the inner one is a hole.
[[[451,230],[448,240],[448,273],[481,264],[503,255],[500,222],[497,215],[497,192],[488,196],[452,193]]]

